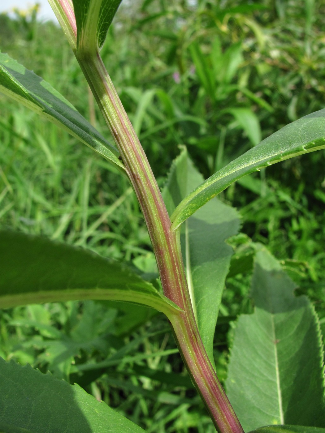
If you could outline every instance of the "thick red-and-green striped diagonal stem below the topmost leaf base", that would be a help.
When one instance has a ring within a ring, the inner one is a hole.
[[[77,50],[76,57],[120,151],[139,200],[159,269],[163,292],[183,312],[171,323],[182,358],[198,392],[221,433],[243,433],[205,351],[186,283],[179,237],[171,222],[156,179],[120,98],[98,53]]]

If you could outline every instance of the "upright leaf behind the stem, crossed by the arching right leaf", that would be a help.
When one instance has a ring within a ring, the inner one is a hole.
[[[172,212],[179,201],[202,181],[183,147],[169,173],[163,197]],[[239,229],[237,211],[215,199],[189,218],[181,233],[188,288],[198,329],[213,360],[213,336],[217,323],[224,281],[233,250],[225,243]]]

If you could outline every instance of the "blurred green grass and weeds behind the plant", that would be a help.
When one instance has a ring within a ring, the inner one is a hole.
[[[122,3],[102,57],[163,185],[178,145],[205,177],[325,106],[322,0],[139,0]],[[37,8],[0,15],[0,48],[107,128],[77,61]],[[112,140],[111,140],[112,141]],[[0,224],[156,266],[127,181],[56,126],[0,95]],[[231,321],[252,309],[252,250],[262,242],[313,301],[325,330],[325,152],[247,176],[221,194],[237,207],[215,355],[226,377]],[[168,324],[145,308],[101,302],[0,313],[0,355],[77,382],[148,432],[213,432]],[[95,364],[96,362],[96,364]],[[177,373],[177,374],[176,374]]]

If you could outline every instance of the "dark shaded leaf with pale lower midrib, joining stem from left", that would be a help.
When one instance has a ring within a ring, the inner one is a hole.
[[[81,248],[0,231],[0,308],[105,299],[143,304],[172,316],[179,307],[119,262]]]

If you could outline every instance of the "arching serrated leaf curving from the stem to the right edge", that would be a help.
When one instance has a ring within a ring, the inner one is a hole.
[[[171,216],[175,230],[234,181],[293,156],[325,148],[325,109],[302,117],[230,162],[182,200]]]

